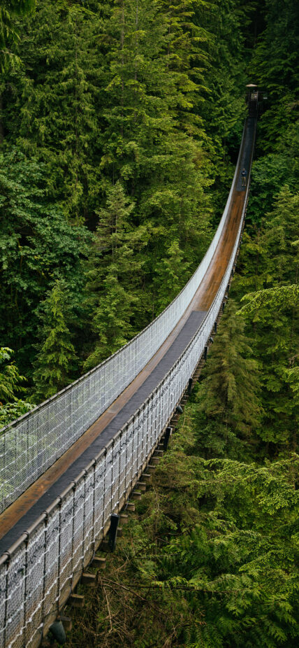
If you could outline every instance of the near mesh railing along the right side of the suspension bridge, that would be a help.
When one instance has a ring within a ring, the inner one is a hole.
[[[0,648],[36,648],[129,498],[173,416],[224,300],[231,259],[203,323],[168,374],[108,445],[0,558]]]

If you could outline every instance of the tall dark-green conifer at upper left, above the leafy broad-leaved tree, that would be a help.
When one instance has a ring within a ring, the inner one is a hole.
[[[23,26],[24,69],[8,83],[17,96],[17,124],[10,123],[9,91],[3,97],[8,136],[47,165],[48,193],[76,223],[92,218],[99,185],[94,158],[102,71],[95,17],[78,3],[41,0]]]

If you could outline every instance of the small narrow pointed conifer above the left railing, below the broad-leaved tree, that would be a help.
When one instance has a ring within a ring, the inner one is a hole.
[[[36,397],[49,398],[73,378],[77,357],[68,328],[66,286],[56,281],[43,304],[41,344],[36,358],[34,385]]]

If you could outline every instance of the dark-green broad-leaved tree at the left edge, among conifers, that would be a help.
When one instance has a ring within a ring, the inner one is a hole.
[[[68,283],[80,310],[87,232],[69,225],[45,192],[45,167],[14,148],[0,155],[0,334],[17,362],[34,360],[37,307],[55,279]]]

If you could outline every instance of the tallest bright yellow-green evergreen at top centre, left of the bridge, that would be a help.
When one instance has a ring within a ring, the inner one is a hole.
[[[184,132],[177,118],[178,111],[191,111],[191,104],[180,74],[169,66],[167,29],[166,18],[149,0],[124,0],[112,12],[102,162],[110,180],[120,176],[135,200],[134,224],[149,232],[145,281],[155,276],[156,263],[176,240],[183,251],[182,287],[188,278],[184,262],[196,267],[208,240],[211,208],[204,190],[210,167],[202,141]],[[160,300],[157,306],[159,311]]]

